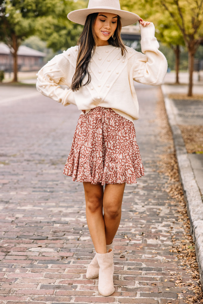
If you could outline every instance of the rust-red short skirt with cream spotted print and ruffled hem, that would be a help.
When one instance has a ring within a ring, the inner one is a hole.
[[[134,124],[109,108],[81,114],[63,174],[92,184],[135,184],[144,168]]]

